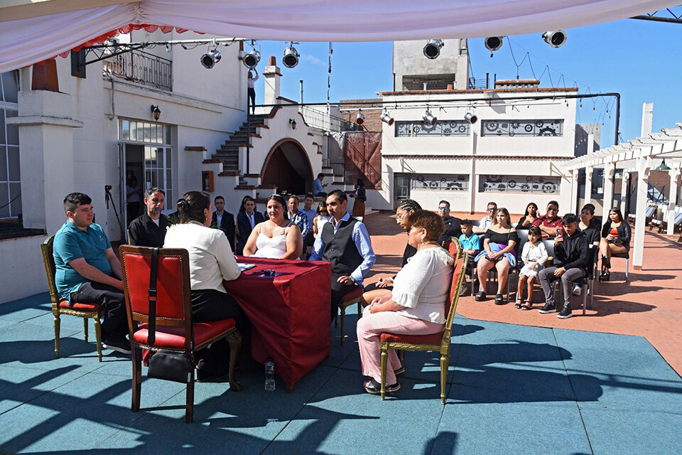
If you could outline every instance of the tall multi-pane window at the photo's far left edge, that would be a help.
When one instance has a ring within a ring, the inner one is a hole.
[[[18,112],[19,72],[0,75],[0,219],[21,214],[21,175],[19,172],[19,129],[7,124]]]

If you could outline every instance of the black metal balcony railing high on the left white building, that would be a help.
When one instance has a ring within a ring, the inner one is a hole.
[[[124,77],[126,80],[153,85],[161,90],[173,90],[172,61],[143,50],[115,55],[102,60],[102,71]]]

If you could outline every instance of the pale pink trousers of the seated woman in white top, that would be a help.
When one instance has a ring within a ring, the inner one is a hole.
[[[362,374],[381,382],[381,333],[397,333],[408,335],[428,335],[443,330],[443,324],[413,319],[395,311],[370,313],[369,306],[364,309],[362,318],[357,321],[357,346],[360,351]],[[386,385],[396,383],[395,370],[401,367],[398,355],[389,349],[389,361],[386,366]]]

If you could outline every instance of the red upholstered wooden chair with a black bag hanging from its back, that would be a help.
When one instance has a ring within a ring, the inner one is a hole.
[[[123,267],[123,284],[126,311],[132,346],[133,384],[131,410],[140,409],[141,358],[136,348],[152,351],[174,350],[185,353],[196,365],[195,353],[221,338],[227,338],[230,347],[230,390],[239,392],[242,385],[234,379],[242,336],[234,328],[234,319],[220,319],[206,323],[193,323],[190,300],[189,254],[184,249],[158,250],[156,284],[156,340],[148,343],[149,275],[152,248],[121,245],[119,252]],[[193,420],[194,373],[187,382],[185,422]]]

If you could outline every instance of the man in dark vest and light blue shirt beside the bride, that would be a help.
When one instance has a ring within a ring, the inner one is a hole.
[[[362,279],[374,261],[372,243],[364,224],[346,212],[348,199],[343,191],[334,190],[327,196],[327,210],[332,217],[315,239],[311,261],[332,264],[331,320],[334,320],[342,297],[355,287],[363,287]]]

